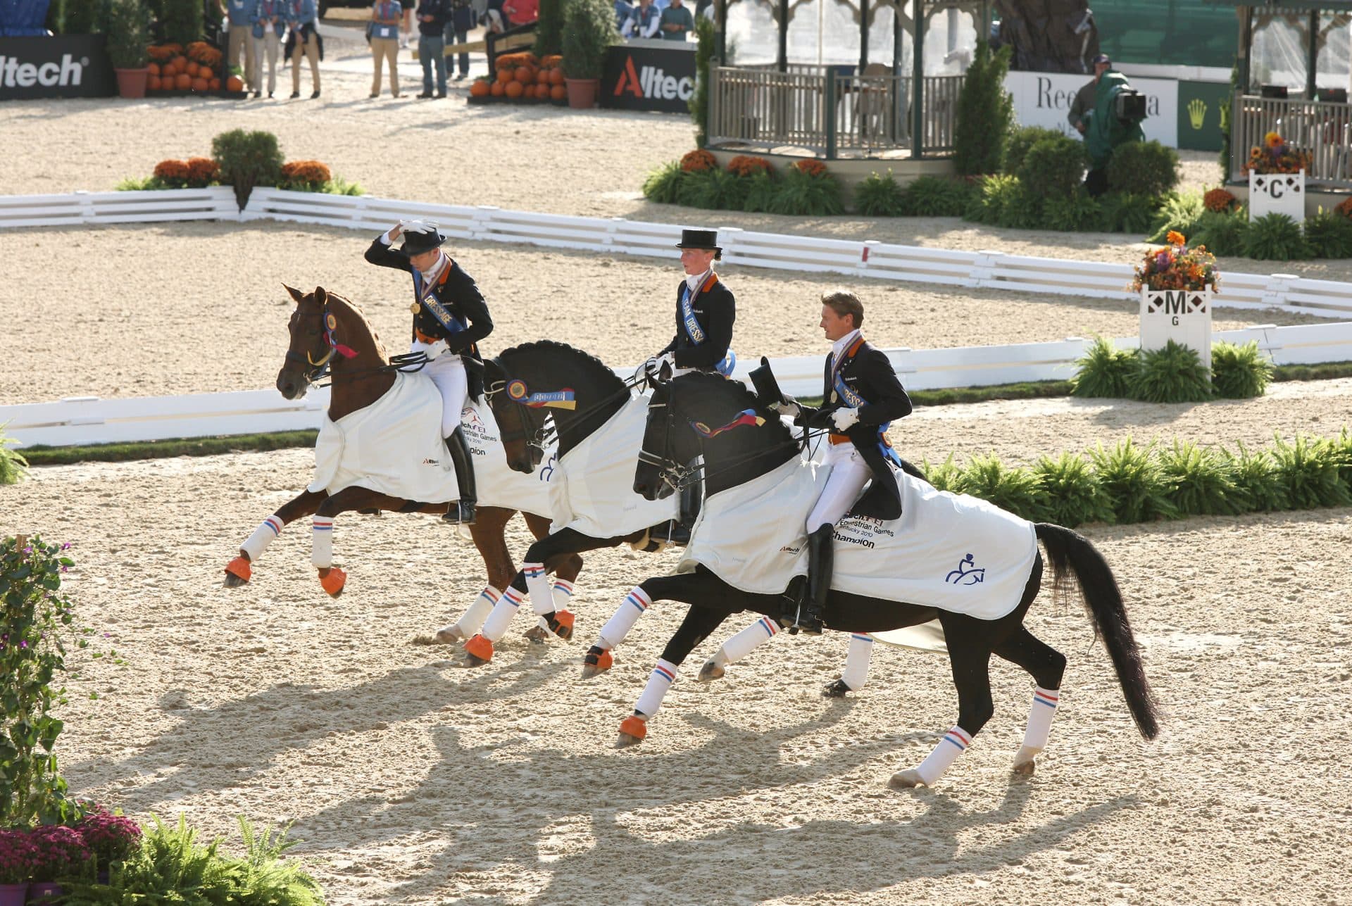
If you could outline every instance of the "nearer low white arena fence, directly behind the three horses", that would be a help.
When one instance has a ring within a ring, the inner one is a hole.
[[[1352,361],[1352,322],[1226,330],[1214,334],[1214,339],[1257,341],[1259,349],[1279,365]],[[1118,348],[1133,348],[1137,338],[1115,342]],[[903,385],[936,389],[1064,380],[1075,373],[1075,360],[1087,346],[1088,341],[1072,337],[1049,343],[886,352]],[[772,360],[780,387],[799,396],[821,394],[822,362],[822,356]],[[738,362],[734,377],[745,379],[746,371],[756,364]],[[623,376],[631,371],[618,368],[615,373]],[[0,425],[8,422],[5,433],[20,448],[72,446],[318,429],[327,406],[329,391],[323,388],[312,389],[300,400],[285,400],[276,389],[108,400],[81,396],[55,403],[0,406]]]

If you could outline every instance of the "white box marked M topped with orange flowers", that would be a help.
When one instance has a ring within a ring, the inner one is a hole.
[[[1141,349],[1174,341],[1197,350],[1211,366],[1211,295],[1220,288],[1215,256],[1205,245],[1169,230],[1163,249],[1151,249],[1136,266],[1132,289],[1141,293]]]

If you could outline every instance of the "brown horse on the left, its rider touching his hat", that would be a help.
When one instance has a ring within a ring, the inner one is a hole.
[[[380,399],[393,385],[396,376],[391,369],[389,357],[380,337],[376,335],[361,310],[350,300],[326,292],[322,287],[316,287],[314,292],[308,293],[287,287],[287,292],[295,300],[296,308],[292,311],[288,325],[291,342],[287,348],[287,357],[277,373],[277,389],[281,395],[287,399],[299,399],[327,366],[333,381],[329,400],[330,419],[337,422]],[[537,460],[538,453],[534,450]],[[531,456],[533,452],[526,450],[526,454]],[[226,567],[224,584],[238,587],[247,583],[251,576],[251,564],[257,561],[281,529],[296,519],[314,515],[316,529],[319,529],[315,533],[316,537],[320,531],[329,531],[331,538],[333,519],[339,512],[391,510],[439,515],[446,512],[446,502],[403,500],[357,485],[331,496],[324,491],[303,491],[265,519],[245,542],[245,546],[239,549],[239,556]],[[515,512],[515,510],[481,506],[470,526],[470,537],[488,571],[488,583],[495,588],[506,588],[507,583],[516,575],[503,534],[504,526]],[[522,512],[522,517],[537,538],[549,533],[546,515]],[[331,545],[331,541],[327,538],[326,541],[326,546]],[[342,594],[346,583],[343,571],[333,567],[331,563],[318,560],[315,565],[319,569],[319,581],[324,591],[334,598]],[[554,557],[545,564],[546,569],[556,571],[557,576],[568,583],[577,577],[581,565],[581,557],[576,554]],[[454,641],[454,637],[442,641]]]

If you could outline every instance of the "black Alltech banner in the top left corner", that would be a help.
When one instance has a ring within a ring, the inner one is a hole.
[[[0,38],[0,100],[116,93],[103,35]]]

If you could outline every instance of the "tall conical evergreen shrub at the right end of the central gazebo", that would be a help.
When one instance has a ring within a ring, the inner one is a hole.
[[[1011,53],[1009,47],[991,53],[988,43],[976,42],[976,53],[957,95],[957,123],[953,126],[953,164],[960,176],[1000,169],[1014,122],[1014,99],[1005,91]]]

